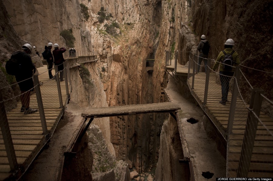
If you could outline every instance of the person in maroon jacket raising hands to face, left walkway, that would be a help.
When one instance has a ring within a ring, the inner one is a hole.
[[[55,48],[52,53],[54,56],[54,63],[55,66],[58,66],[58,71],[60,72],[60,81],[63,81],[63,62],[65,61],[63,58],[63,53],[66,51],[66,49],[64,47],[59,48],[59,45],[57,43],[55,43],[53,45],[53,47]]]

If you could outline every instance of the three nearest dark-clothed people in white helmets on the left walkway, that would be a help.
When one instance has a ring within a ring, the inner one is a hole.
[[[52,47],[54,50],[51,52]],[[33,47],[35,49],[35,47]],[[35,65],[32,62],[30,54],[33,49],[30,44],[24,44],[21,50],[12,53],[11,58],[6,62],[6,71],[8,74],[15,75],[15,79],[18,82],[21,95],[20,101],[22,103],[21,112],[24,114],[32,114],[38,111],[29,107],[30,93],[34,90],[34,83],[32,75],[35,73]],[[35,51],[35,50],[34,50]],[[58,44],[48,43],[45,46],[45,51],[42,53],[43,58],[48,63],[48,73],[50,79],[55,79],[52,75],[53,63],[58,67],[60,71],[60,81],[63,81],[63,53],[66,51],[64,47],[59,48]],[[39,52],[38,52],[39,53]]]

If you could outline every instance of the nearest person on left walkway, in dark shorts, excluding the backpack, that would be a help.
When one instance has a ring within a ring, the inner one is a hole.
[[[27,43],[22,46],[22,51],[15,51],[11,56],[11,58],[18,61],[20,67],[15,74],[15,78],[20,87],[20,100],[22,103],[21,112],[24,112],[24,114],[32,114],[38,111],[38,109],[29,107],[30,92],[34,90],[32,75],[35,73],[35,65],[32,63],[31,56],[29,55],[31,54],[31,51],[32,46]]]

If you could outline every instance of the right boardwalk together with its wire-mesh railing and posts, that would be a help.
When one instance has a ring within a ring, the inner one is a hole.
[[[261,107],[271,107],[264,91],[243,87],[251,90],[251,94],[242,95],[240,77],[246,79],[239,66],[230,81],[227,102],[219,103],[222,97],[219,73],[211,70],[213,60],[207,59],[207,71],[197,71],[205,68],[197,62],[197,52],[182,52],[188,54],[188,64],[177,63],[178,52],[171,60],[166,53],[166,70],[171,76],[187,76],[187,84],[193,97],[197,100],[204,113],[211,120],[215,130],[226,141],[227,146],[227,177],[273,177],[273,119]],[[186,61],[187,61],[186,60]],[[186,73],[187,72],[187,73]],[[228,79],[227,79],[228,80]],[[249,82],[246,79],[247,82]]]

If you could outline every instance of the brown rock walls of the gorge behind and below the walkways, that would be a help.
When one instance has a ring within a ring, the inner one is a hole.
[[[164,94],[170,81],[165,71],[166,52],[170,51],[174,59],[178,50],[178,62],[185,65],[184,57],[196,51],[203,34],[211,44],[211,59],[216,59],[226,39],[232,38],[242,65],[264,71],[272,71],[273,67],[272,0],[0,2],[0,87],[12,84],[6,78],[5,62],[22,44],[30,43],[41,54],[48,42],[58,43],[67,50],[75,48],[82,56],[69,62],[70,66],[89,61],[89,55],[98,59],[70,70],[70,102],[79,110],[168,102]],[[72,32],[73,47],[61,36],[63,30]],[[37,59],[34,54],[32,57]],[[153,70],[146,70],[147,60],[154,60]],[[251,84],[263,88],[272,100],[272,74],[264,76],[254,70],[246,74],[253,77]],[[257,81],[258,77],[264,77],[264,81]],[[248,83],[243,82],[241,87],[244,84]],[[187,84],[177,86],[177,91],[196,106]],[[246,88],[244,91],[249,92]],[[267,106],[263,106],[266,110]],[[71,112],[68,107],[63,119],[72,119]],[[62,180],[129,181],[133,169],[139,174],[152,173],[150,180],[189,180],[189,166],[171,163],[183,157],[181,142],[178,127],[168,113],[95,118],[79,144],[78,161],[66,160]],[[176,151],[164,153],[168,149]],[[170,163],[166,163],[168,168],[163,160]],[[183,169],[182,173],[178,173],[179,169]]]

